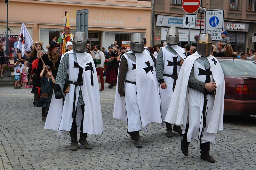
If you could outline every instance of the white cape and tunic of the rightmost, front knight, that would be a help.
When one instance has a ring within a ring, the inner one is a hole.
[[[196,62],[196,59],[200,56],[196,52],[190,55],[182,64],[176,88],[174,89],[173,97],[164,120],[171,124],[183,125],[183,133],[187,123],[189,123],[188,142],[191,141],[191,138],[198,140],[203,130],[202,111],[204,94],[188,87],[188,79],[192,67],[194,67],[194,76],[198,80],[205,82],[206,76],[198,75],[199,68],[204,69],[203,66]],[[215,134],[218,130],[223,130],[224,74],[219,61],[215,57],[210,55],[206,58],[211,66],[211,81],[215,81],[217,89],[215,98],[207,95],[206,128],[203,130],[202,143],[211,142],[214,144]]]

